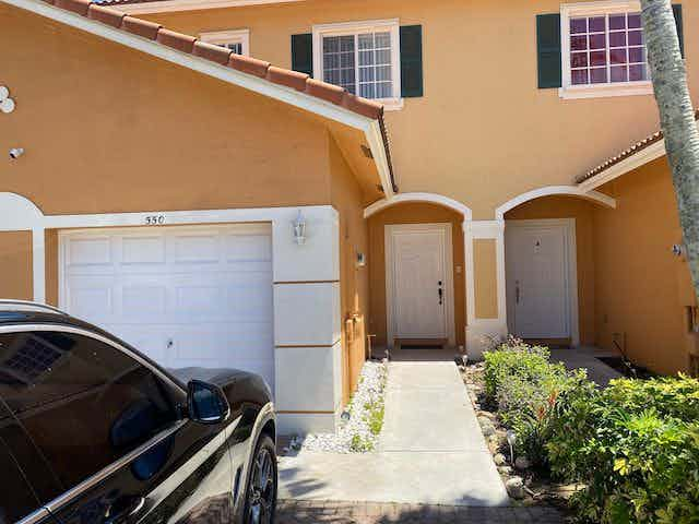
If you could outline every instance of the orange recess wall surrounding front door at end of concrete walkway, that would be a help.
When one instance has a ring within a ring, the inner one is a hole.
[[[377,345],[387,343],[386,324],[386,245],[389,224],[451,223],[453,245],[454,323],[457,344],[464,344],[465,281],[463,216],[446,207],[424,203],[405,203],[389,207],[369,218],[369,288],[371,290],[369,329]],[[457,271],[461,267],[461,272]]]

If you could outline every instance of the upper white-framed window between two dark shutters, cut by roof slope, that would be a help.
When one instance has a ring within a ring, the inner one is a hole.
[[[398,20],[313,26],[313,71],[350,93],[401,107]]]

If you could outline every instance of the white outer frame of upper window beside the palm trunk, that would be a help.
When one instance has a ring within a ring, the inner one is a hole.
[[[653,84],[650,80],[584,85],[573,85],[571,83],[570,19],[603,14],[633,13],[640,11],[641,3],[636,0],[603,0],[584,3],[564,3],[560,5],[560,55],[562,85],[559,90],[559,95],[561,98],[596,98],[603,96],[632,96],[653,94]],[[650,69],[648,69],[648,74],[650,75]]]

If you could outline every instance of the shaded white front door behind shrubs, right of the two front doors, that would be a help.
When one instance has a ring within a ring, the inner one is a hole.
[[[505,241],[510,332],[574,340],[574,221],[508,221]]]

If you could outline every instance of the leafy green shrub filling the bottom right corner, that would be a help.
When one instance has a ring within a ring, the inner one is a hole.
[[[621,379],[561,403],[547,443],[555,474],[582,481],[581,521],[699,522],[699,381]]]

